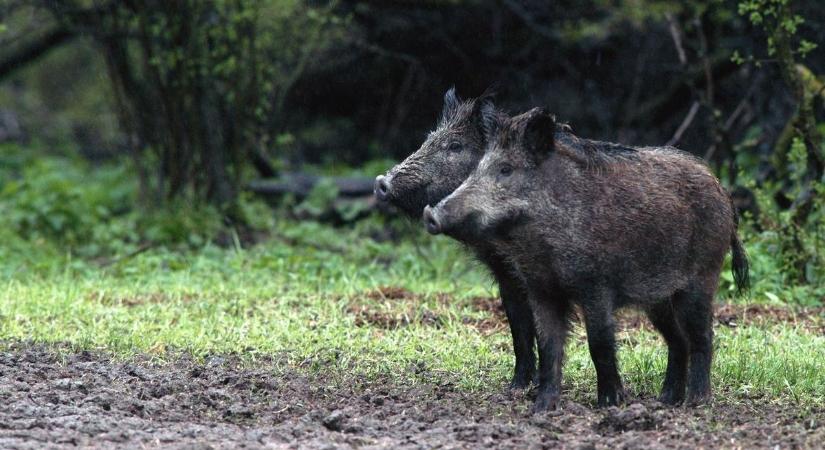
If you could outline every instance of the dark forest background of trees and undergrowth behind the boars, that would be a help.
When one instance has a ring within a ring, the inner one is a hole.
[[[823,42],[818,0],[0,0],[3,220],[90,254],[265,228],[261,199],[350,223],[444,91],[493,87],[511,113],[706,159],[752,242],[812,284]]]

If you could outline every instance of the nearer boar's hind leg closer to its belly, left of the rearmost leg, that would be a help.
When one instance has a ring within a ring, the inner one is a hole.
[[[670,299],[659,302],[647,310],[647,317],[659,330],[667,343],[667,370],[659,401],[676,405],[685,399],[688,367],[688,340],[676,321]]]

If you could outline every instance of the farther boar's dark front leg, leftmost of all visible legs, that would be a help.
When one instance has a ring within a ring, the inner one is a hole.
[[[522,286],[509,277],[497,278],[516,355],[516,367],[510,389],[524,389],[533,381],[533,374],[536,372],[536,329],[533,324],[533,312]]]

